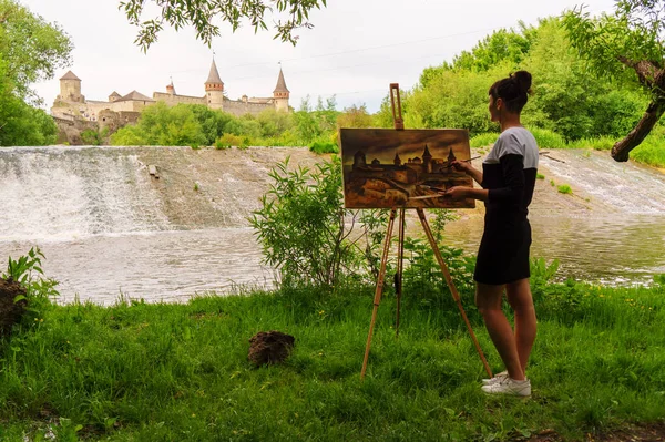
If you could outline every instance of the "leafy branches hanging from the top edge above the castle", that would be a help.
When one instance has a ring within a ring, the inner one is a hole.
[[[231,24],[235,32],[244,21],[248,21],[254,31],[267,30],[265,16],[273,12],[275,17],[275,39],[296,44],[298,39],[294,31],[298,28],[311,28],[309,11],[326,7],[327,0],[126,0],[120,2],[130,23],[139,27],[135,43],[144,51],[157,40],[157,34],[167,24],[175,30],[192,25],[196,38],[208,47],[214,37],[219,35],[219,27],[215,19],[219,18]],[[147,6],[161,9],[157,18],[143,20],[142,14]]]

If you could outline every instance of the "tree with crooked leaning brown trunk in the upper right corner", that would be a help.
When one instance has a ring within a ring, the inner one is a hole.
[[[583,8],[565,14],[572,45],[598,75],[638,82],[651,97],[635,127],[612,147],[627,161],[665,112],[665,0],[620,0],[612,16],[590,17]]]

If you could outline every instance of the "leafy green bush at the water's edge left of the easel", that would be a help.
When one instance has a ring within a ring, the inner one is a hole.
[[[250,218],[267,264],[287,286],[335,287],[356,274],[358,253],[342,207],[341,162],[289,171],[288,158],[272,172],[274,183]]]

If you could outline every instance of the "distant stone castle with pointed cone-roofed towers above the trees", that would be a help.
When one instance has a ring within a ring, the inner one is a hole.
[[[181,103],[203,104],[209,109],[228,112],[236,116],[244,114],[257,115],[267,109],[289,112],[289,90],[286,88],[282,69],[279,69],[277,85],[270,97],[243,95],[239,100],[228,99],[224,94],[224,82],[219,78],[214,59],[204,84],[205,95],[201,97],[176,94],[172,80],[166,86],[166,92],[153,92],[152,99],[136,91],[132,91],[126,95],[120,95],[113,91],[109,95],[109,101],[93,101],[85,100],[85,96],[81,94],[81,79],[69,71],[60,79],[60,95],[53,102],[51,115],[57,120],[98,122],[101,129],[103,126],[122,126],[135,122],[146,106],[157,102],[164,102],[168,106]]]

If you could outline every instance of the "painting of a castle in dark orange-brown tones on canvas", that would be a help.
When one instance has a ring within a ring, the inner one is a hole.
[[[341,129],[344,201],[347,208],[473,208],[441,191],[473,186],[450,165],[471,157],[469,132],[457,129]]]

